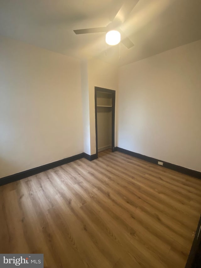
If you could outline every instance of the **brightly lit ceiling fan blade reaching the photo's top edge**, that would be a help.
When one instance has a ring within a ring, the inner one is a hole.
[[[123,23],[138,1],[139,0],[125,0],[113,20]]]

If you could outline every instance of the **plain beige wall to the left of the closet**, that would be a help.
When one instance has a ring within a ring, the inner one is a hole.
[[[82,152],[80,63],[0,37],[0,178]]]

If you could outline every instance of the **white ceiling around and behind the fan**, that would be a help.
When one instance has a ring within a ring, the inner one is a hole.
[[[0,35],[77,58],[128,64],[201,39],[201,0],[139,0],[121,29],[134,47],[112,46],[104,33],[73,30],[103,27],[117,0],[0,0]],[[117,3],[117,2],[116,2]]]

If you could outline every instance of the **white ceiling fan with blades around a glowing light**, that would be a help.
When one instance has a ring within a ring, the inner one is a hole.
[[[89,34],[89,33],[102,33],[106,32],[106,43],[107,42],[107,36],[109,33],[114,33],[114,31],[117,32],[117,35],[119,37],[118,41],[116,43],[111,43],[112,45],[116,45],[121,42],[124,46],[127,48],[131,48],[134,46],[133,42],[124,34],[124,32],[120,29],[120,26],[124,23],[124,21],[127,19],[130,12],[133,10],[134,6],[138,3],[139,0],[115,0],[115,7],[113,8],[113,14],[110,16],[110,21],[107,26],[105,27],[97,27],[97,28],[89,28],[89,29],[80,29],[80,30],[73,30],[76,35],[80,34]],[[109,43],[108,43],[109,44]]]

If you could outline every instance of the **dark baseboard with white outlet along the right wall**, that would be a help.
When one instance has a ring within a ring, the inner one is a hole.
[[[186,167],[177,166],[175,164],[171,164],[171,163],[159,160],[159,159],[155,159],[153,157],[144,156],[144,155],[141,155],[141,154],[138,154],[138,153],[134,153],[132,151],[122,149],[122,148],[119,148],[119,147],[115,147],[115,148],[119,152],[122,152],[124,154],[129,155],[129,156],[137,157],[139,159],[154,163],[156,165],[158,165],[158,161],[161,161],[161,162],[163,162],[163,167],[166,167],[166,168],[172,169],[174,171],[178,171],[180,173],[183,173],[183,174],[186,174],[186,175],[201,179],[201,172],[199,172],[199,171],[192,170],[192,169],[189,169],[189,168],[186,168]]]

